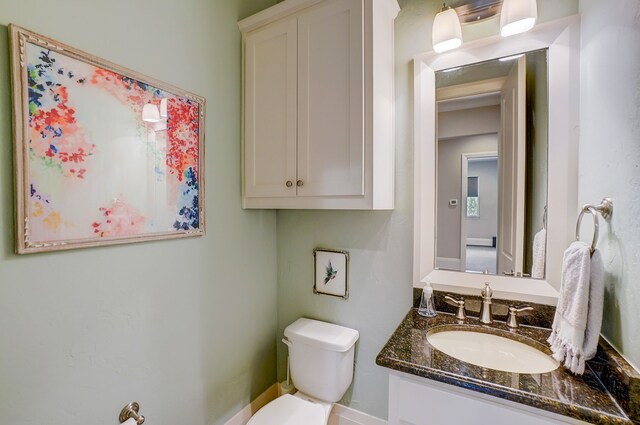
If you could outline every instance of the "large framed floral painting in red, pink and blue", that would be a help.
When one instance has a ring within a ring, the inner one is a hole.
[[[204,234],[204,99],[9,31],[16,251]]]

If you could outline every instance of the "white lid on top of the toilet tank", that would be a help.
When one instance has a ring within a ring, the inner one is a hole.
[[[302,317],[285,328],[284,336],[291,342],[344,352],[353,347],[360,334],[355,329]]]

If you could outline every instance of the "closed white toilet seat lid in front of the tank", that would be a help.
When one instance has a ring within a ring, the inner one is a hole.
[[[285,394],[258,410],[247,425],[326,425],[325,415],[321,405]]]

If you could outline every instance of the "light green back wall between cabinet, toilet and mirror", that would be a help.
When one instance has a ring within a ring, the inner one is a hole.
[[[375,357],[408,311],[413,262],[414,55],[431,49],[436,0],[401,0],[395,22],[396,208],[371,211],[278,211],[278,332],[300,316],[324,319],[360,331],[354,383],[342,403],[387,417],[387,370]],[[577,0],[538,1],[539,22],[573,15]],[[465,26],[466,41],[498,33],[497,19]],[[314,295],[314,247],[351,253],[348,301]],[[278,340],[279,340],[278,338]],[[278,343],[278,378],[286,377],[286,350]]]

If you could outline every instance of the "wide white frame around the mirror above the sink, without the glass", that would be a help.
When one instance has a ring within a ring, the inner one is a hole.
[[[549,90],[545,279],[436,269],[435,73],[540,49],[548,49]],[[428,52],[414,57],[414,287],[423,287],[428,279],[434,289],[478,295],[484,282],[490,282],[498,298],[556,305],[563,252],[575,237],[571,232],[578,205],[579,66],[578,15],[536,25],[524,34],[497,35],[444,54]]]

